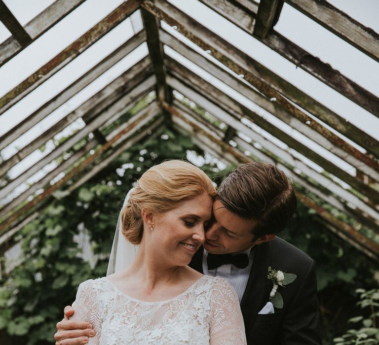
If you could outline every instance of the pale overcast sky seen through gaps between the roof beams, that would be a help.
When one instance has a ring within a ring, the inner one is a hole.
[[[296,85],[314,99],[325,104],[346,120],[351,121],[356,126],[362,128],[371,136],[379,139],[379,119],[368,113],[366,110],[341,96],[302,69],[297,69],[292,63],[282,58],[279,54],[273,52],[264,44],[244,33],[233,24],[227,22],[224,18],[211,11],[197,0],[169,1],[187,12],[190,16],[194,17],[201,24],[207,26],[218,35],[233,43],[240,50],[249,54],[252,58],[262,63],[267,68],[273,70],[278,75]],[[4,2],[21,24],[25,25],[40,11],[50,5],[53,0],[5,0]],[[39,67],[43,66],[47,61],[75,41],[78,36],[85,33],[122,2],[122,0],[86,0],[59,24],[55,25],[46,34],[38,38],[36,42],[24,49],[20,54],[0,68],[0,96],[4,95]],[[341,8],[341,10],[345,11],[350,16],[361,21],[364,25],[379,32],[378,0],[333,0],[330,2]],[[11,107],[0,116],[0,135],[5,133],[11,127],[16,126],[23,118],[38,109],[41,104],[51,99],[67,85],[75,81],[76,78],[96,65],[125,40],[134,35],[140,27],[141,24],[139,23],[137,15],[134,16],[133,23],[130,20],[123,22],[108,35],[82,53],[72,63],[49,78],[34,92],[25,97],[18,104]],[[176,34],[171,28],[167,28],[167,30],[171,30],[173,34]],[[276,25],[275,30],[310,53],[320,57],[324,62],[331,64],[333,68],[340,70],[347,77],[356,81],[373,94],[379,96],[379,64],[318,24],[315,24],[291,6],[287,4],[284,5],[280,20]],[[181,37],[181,35],[176,35],[180,39],[185,39]],[[6,39],[8,36],[9,32],[7,32],[4,26],[0,23],[0,41]],[[206,71],[199,69],[179,54],[170,51],[170,49],[166,49],[165,52],[179,60],[189,69],[196,71],[199,75],[209,80],[221,90],[233,95],[233,97],[239,102],[246,104],[246,106],[249,106],[252,110],[265,113],[262,109],[257,109],[257,106],[252,104],[250,100],[236,94],[235,91],[230,90],[230,88],[223,84],[222,81],[210,76]],[[67,113],[73,111],[79,104],[91,97],[147,53],[146,44],[137,48],[136,51],[129,54],[112,69],[104,73],[104,75],[91,83],[69,102],[63,104],[31,131],[2,150],[1,154],[3,158],[6,159],[10,157],[16,153],[20,147],[23,147],[25,144],[38,137],[40,133],[45,131],[59,119],[63,118]],[[303,138],[295,129],[288,128],[287,125],[281,123],[268,113],[265,113],[265,116],[273,123],[277,123],[279,127],[281,126],[281,128],[287,133],[308,144],[307,138]],[[82,128],[83,126],[84,123],[78,119],[62,135],[66,135],[75,129]],[[336,160],[341,168],[354,174],[354,171],[349,165],[345,164],[340,159],[333,157],[327,150],[316,146],[314,147],[314,149],[319,150],[321,154],[329,159]],[[53,148],[54,145],[52,142],[49,142],[47,144],[47,150],[44,153],[36,151],[31,154],[27,159],[23,160],[22,164],[14,167],[11,170],[10,175],[14,177],[22,173],[22,171],[28,169],[29,166],[35,164],[36,160],[40,159],[41,155],[47,154]],[[51,170],[53,167],[47,167],[46,169]],[[45,172],[40,172],[40,174],[43,173]],[[33,180],[37,180],[40,176],[41,175],[34,176]],[[20,186],[20,188],[24,189],[26,186]]]

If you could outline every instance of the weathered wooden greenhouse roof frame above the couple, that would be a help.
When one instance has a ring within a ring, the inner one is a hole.
[[[0,44],[0,67],[84,1],[56,0],[23,27],[0,0],[0,21],[12,34]],[[273,29],[281,15],[283,1],[199,1],[373,116],[379,117],[377,96]],[[379,62],[379,35],[370,28],[364,27],[325,0],[285,2]],[[131,145],[151,138],[152,132],[156,135],[165,126],[170,126],[180,133],[190,135],[197,146],[221,161],[242,164],[263,160],[277,165],[294,181],[298,187],[299,200],[318,213],[320,222],[371,259],[379,261],[378,140],[346,122],[343,116],[317,102],[167,0],[123,2],[74,43],[2,96],[0,116],[137,10],[141,13],[143,30],[0,137],[2,150],[141,44],[147,43],[148,56],[80,104],[45,133],[20,148],[17,153],[0,161],[0,200],[5,200],[9,193],[24,184],[43,166],[60,160],[52,171],[1,205],[0,253],[14,244],[12,239],[18,231],[27,221],[38,216],[54,191],[60,188],[75,190]],[[175,27],[180,35],[198,48],[192,48],[177,38],[177,35],[166,31],[161,26],[161,21]],[[350,164],[356,169],[356,175],[346,173],[299,139],[275,126],[261,113],[251,110],[206,81],[167,54],[165,47],[186,57],[198,68],[221,80],[283,124]],[[119,124],[111,133],[104,132],[128,110],[146,100],[152,91],[155,91],[155,98],[143,109]],[[173,91],[196,104],[202,113],[207,112],[221,121],[226,129],[212,124],[186,102],[175,97]],[[308,114],[318,120],[315,121]],[[24,173],[12,180],[4,178],[12,167],[79,118],[85,123],[82,129],[57,145]],[[258,126],[262,131],[257,131],[249,124]],[[270,140],[265,133],[279,141]],[[350,139],[366,152],[358,150],[342,137]],[[83,139],[86,139],[83,147],[69,157],[64,157],[66,152]],[[322,171],[306,164],[302,157],[312,161]],[[95,165],[87,171],[89,164]],[[61,174],[63,177],[57,178]],[[74,176],[79,178],[68,185],[67,182]],[[349,187],[346,188],[340,181]],[[328,211],[328,206],[334,207],[337,215]],[[341,220],[338,214],[347,214],[349,221]],[[361,231],[362,228],[376,235],[370,237]]]

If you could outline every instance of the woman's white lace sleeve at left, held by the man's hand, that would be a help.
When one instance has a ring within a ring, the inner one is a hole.
[[[94,286],[94,280],[82,282],[76,292],[73,303],[75,313],[70,320],[87,321],[92,323],[96,332],[94,337],[89,338],[88,345],[98,345],[101,336],[101,316],[98,302],[98,289]]]

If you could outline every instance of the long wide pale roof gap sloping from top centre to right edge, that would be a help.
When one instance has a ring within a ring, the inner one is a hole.
[[[338,92],[311,76],[303,69],[296,68],[296,66],[287,59],[281,57],[251,35],[237,28],[209,7],[201,4],[197,0],[169,1],[192,18],[195,18],[196,21],[208,27],[238,49],[244,51],[262,65],[301,89],[310,97],[326,105],[372,137],[379,138],[379,132],[377,130],[377,128],[379,128],[378,118],[341,96]],[[303,29],[304,28],[302,28],[302,30]],[[344,57],[341,56],[341,59],[344,59]]]

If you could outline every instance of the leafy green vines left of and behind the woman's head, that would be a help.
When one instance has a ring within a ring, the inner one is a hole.
[[[105,276],[118,212],[133,182],[165,159],[186,158],[189,149],[203,154],[190,138],[167,129],[123,152],[73,193],[54,192],[48,207],[21,229],[23,262],[1,281],[1,344],[52,344],[55,325],[75,300],[79,283]],[[212,164],[208,168],[219,172]],[[75,240],[79,229],[90,236],[94,267],[82,259]],[[4,334],[10,340],[3,342]]]

